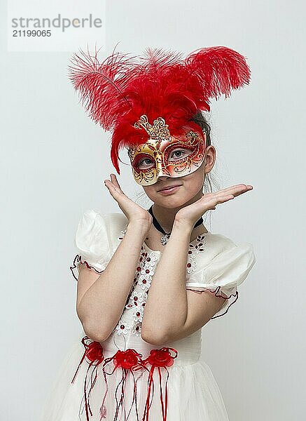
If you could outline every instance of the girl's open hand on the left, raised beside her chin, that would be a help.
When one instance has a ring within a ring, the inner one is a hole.
[[[147,233],[152,224],[152,216],[148,213],[148,210],[141,208],[123,193],[115,174],[111,174],[111,180],[104,180],[104,185],[109,189],[111,196],[129,220],[129,224],[144,227],[144,231]]]

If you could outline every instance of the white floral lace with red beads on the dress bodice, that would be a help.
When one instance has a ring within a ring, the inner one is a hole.
[[[118,241],[121,241],[127,232],[127,228],[120,232]],[[188,259],[186,264],[186,272],[191,273],[196,269],[195,256],[206,250],[207,241],[205,234],[200,234],[197,238],[189,243]],[[130,294],[125,304],[120,320],[117,326],[113,329],[113,335],[132,335],[139,336],[141,334],[141,323],[144,316],[144,307],[146,305],[146,298],[148,297],[148,289],[151,286],[153,274],[155,272],[155,265],[158,257],[153,251],[148,252],[144,245],[141,246],[138,266],[136,268],[134,280]]]

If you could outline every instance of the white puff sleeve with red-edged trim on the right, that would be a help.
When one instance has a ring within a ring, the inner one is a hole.
[[[222,250],[207,265],[190,274],[186,288],[201,293],[209,290],[217,297],[226,298],[221,309],[211,318],[223,316],[237,301],[239,286],[256,263],[251,243],[240,243]]]

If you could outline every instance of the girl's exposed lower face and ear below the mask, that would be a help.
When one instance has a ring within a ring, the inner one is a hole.
[[[151,201],[164,208],[181,208],[193,203],[202,197],[204,178],[214,166],[216,149],[207,147],[204,161],[196,171],[183,177],[160,177],[153,185],[142,186]],[[161,192],[168,186],[176,186],[172,192]]]

